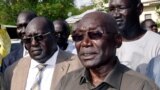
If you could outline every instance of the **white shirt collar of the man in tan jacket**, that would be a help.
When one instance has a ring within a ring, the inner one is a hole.
[[[59,52],[59,47],[57,46],[57,51],[44,64],[46,64],[47,66],[53,66],[54,67],[55,64],[56,64],[58,52]],[[31,68],[35,68],[39,64],[40,63],[37,62],[36,60],[31,59]]]

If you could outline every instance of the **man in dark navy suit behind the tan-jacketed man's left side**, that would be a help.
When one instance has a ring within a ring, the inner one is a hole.
[[[17,17],[17,34],[20,39],[22,39],[25,34],[24,31],[27,24],[35,17],[37,17],[37,15],[32,11],[22,11],[21,13],[19,13]],[[10,54],[4,58],[2,62],[1,72],[4,72],[8,66],[12,65],[14,62],[22,57],[25,57],[26,55],[28,55],[28,52],[21,42],[17,45],[15,50],[10,52]]]

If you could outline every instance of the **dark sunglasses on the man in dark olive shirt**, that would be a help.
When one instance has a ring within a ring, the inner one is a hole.
[[[92,40],[98,40],[98,39],[101,39],[103,37],[103,32],[102,31],[89,31],[87,33],[88,37]],[[72,39],[73,41],[75,42],[79,42],[79,41],[82,41],[84,39],[84,33],[76,33],[76,32],[73,32],[72,34]]]

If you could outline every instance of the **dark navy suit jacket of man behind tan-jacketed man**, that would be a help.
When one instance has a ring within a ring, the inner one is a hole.
[[[1,72],[3,73],[5,69],[12,65],[14,62],[18,61],[20,58],[23,57],[23,45],[18,43],[15,49],[11,51],[3,60],[1,66]]]

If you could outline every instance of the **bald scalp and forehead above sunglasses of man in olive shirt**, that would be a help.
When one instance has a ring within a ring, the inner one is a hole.
[[[106,32],[118,33],[115,19],[111,15],[99,11],[86,14],[77,26],[81,27],[81,25],[84,25],[83,27],[89,25],[101,26],[105,28]]]

